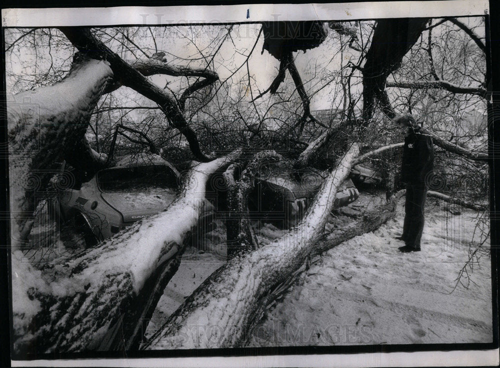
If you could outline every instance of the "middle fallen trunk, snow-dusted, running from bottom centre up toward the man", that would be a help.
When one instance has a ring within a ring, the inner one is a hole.
[[[302,221],[281,238],[228,261],[173,313],[144,348],[214,348],[241,345],[269,290],[313,251],[340,183],[359,148],[352,145],[319,189]]]

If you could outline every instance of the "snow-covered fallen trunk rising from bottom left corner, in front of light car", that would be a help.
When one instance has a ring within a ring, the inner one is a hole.
[[[137,324],[154,309],[178,266],[182,240],[197,222],[206,179],[238,154],[197,164],[166,211],[134,223],[95,248],[56,259],[43,271],[33,269],[20,251],[14,251],[14,352],[134,346],[141,336]]]

